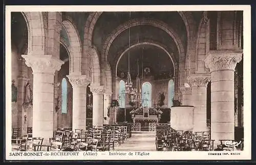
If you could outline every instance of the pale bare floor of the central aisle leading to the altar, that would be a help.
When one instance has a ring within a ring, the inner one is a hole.
[[[156,132],[133,132],[132,137],[121,145],[115,144],[115,151],[156,151]]]

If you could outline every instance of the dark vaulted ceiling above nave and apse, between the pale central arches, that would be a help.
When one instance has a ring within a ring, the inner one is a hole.
[[[197,14],[195,14],[197,16]],[[200,15],[200,14],[198,14]],[[93,32],[93,44],[102,53],[102,47],[105,40],[115,31],[118,26],[135,18],[151,18],[163,21],[180,37],[184,49],[186,50],[187,34],[185,24],[178,12],[103,12]],[[173,53],[175,60],[179,61],[177,46],[172,37],[165,31],[151,25],[138,25],[130,28],[131,45],[138,42],[152,41],[164,46],[169,53]],[[129,48],[129,29],[119,34],[113,41],[109,53],[108,62],[112,70],[116,69],[116,63],[120,54]],[[161,75],[173,76],[174,66],[166,52],[154,45],[144,45],[143,67],[150,67],[152,74],[156,77]],[[132,77],[137,74],[137,58],[141,57],[141,46],[131,49],[131,73]],[[117,75],[120,77],[121,72],[127,72],[127,53],[124,54],[118,64]],[[140,62],[141,63],[141,62]],[[140,72],[142,68],[140,66]],[[164,76],[163,76],[164,77]]]

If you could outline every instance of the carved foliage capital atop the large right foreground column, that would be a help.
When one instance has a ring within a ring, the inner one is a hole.
[[[236,51],[209,51],[209,55],[205,58],[205,66],[210,72],[218,70],[234,70],[237,63],[242,60],[242,50]]]

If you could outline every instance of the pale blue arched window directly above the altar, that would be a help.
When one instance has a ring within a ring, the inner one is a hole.
[[[142,85],[142,106],[151,107],[152,106],[151,99],[152,99],[152,86],[150,82],[144,82],[144,84]]]

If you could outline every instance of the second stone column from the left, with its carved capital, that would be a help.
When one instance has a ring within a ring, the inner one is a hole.
[[[68,75],[73,87],[72,130],[86,130],[86,88],[91,78],[87,75]]]

